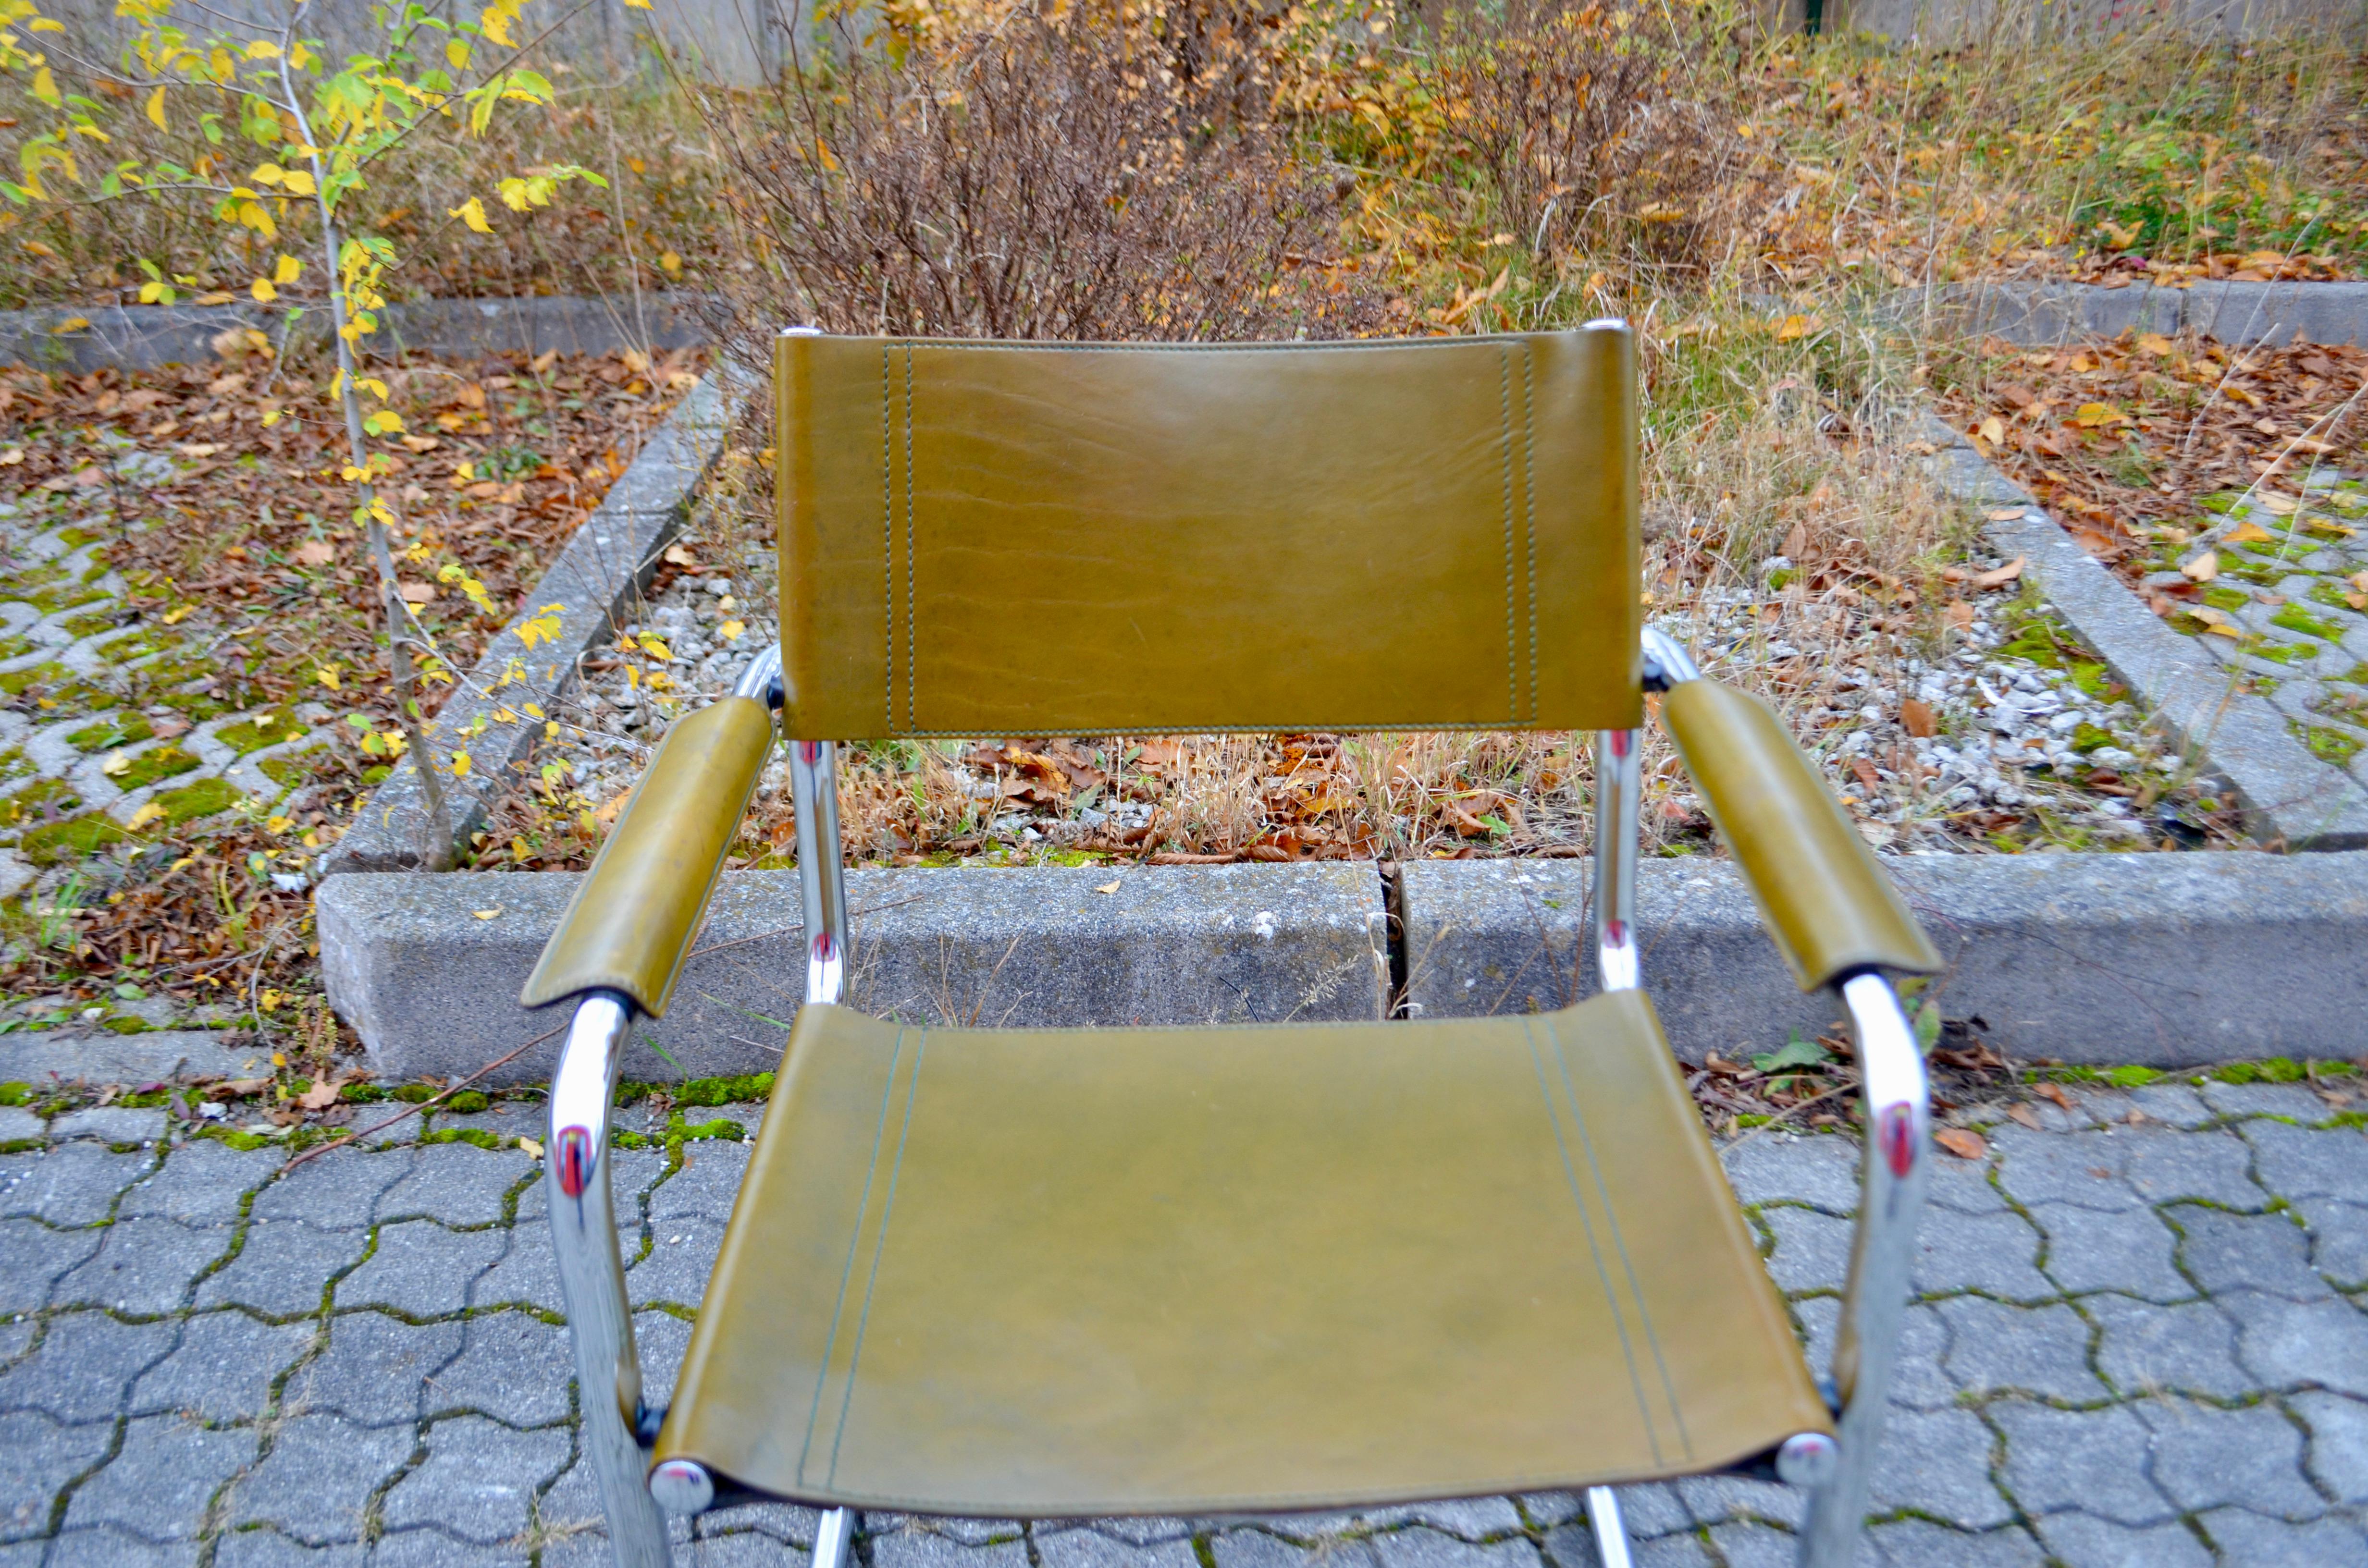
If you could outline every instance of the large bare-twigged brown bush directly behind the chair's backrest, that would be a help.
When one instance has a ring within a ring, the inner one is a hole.
[[[755,261],[734,327],[997,339],[1345,336],[1378,320],[1331,189],[1255,104],[1241,26],[1014,7],[699,90]],[[1189,47],[1186,47],[1189,45]]]

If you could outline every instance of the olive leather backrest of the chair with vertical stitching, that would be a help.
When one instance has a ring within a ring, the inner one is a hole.
[[[784,732],[1641,722],[1624,324],[777,346]]]

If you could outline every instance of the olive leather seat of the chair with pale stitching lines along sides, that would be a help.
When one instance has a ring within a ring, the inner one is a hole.
[[[1830,1428],[1643,992],[1130,1030],[807,1004],[656,1459],[815,1504],[1224,1514]]]

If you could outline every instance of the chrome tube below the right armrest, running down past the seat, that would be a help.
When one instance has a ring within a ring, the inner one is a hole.
[[[1916,1272],[1916,1220],[1932,1153],[1932,1087],[1899,995],[1880,973],[1849,976],[1840,992],[1859,1042],[1866,1153],[1833,1345],[1840,1454],[1833,1478],[1809,1499],[1800,1537],[1804,1568],[1847,1568],[1859,1540]]]

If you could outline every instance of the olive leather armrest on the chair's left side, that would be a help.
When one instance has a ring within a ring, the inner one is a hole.
[[[725,853],[772,753],[772,713],[727,696],[668,730],[519,1002],[620,990],[651,1018],[708,912]]]

